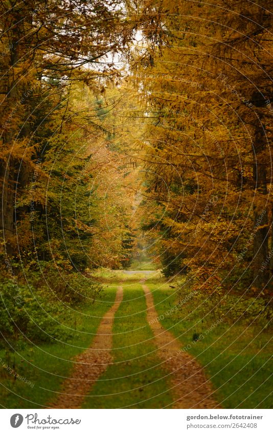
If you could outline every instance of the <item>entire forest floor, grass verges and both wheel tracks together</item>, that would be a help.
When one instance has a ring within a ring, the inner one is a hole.
[[[193,333],[214,319],[196,326],[183,309],[170,313],[177,295],[159,271],[104,278],[101,299],[76,312],[69,342],[14,354],[11,363],[26,380],[2,376],[5,407],[271,407],[269,332],[221,323],[194,342]]]

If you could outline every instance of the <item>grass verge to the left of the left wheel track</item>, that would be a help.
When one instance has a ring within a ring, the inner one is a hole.
[[[1,403],[6,408],[42,408],[54,399],[54,391],[60,390],[64,377],[73,369],[72,358],[88,348],[96,334],[101,317],[112,306],[116,295],[115,287],[103,291],[101,300],[78,306],[80,312],[72,315],[71,327],[77,325],[77,333],[67,342],[28,346],[13,353],[10,360],[5,359],[5,352],[0,352]],[[70,319],[71,321],[71,319]],[[30,381],[27,384],[19,379],[14,380],[7,369],[2,366],[6,362],[10,372],[14,370]],[[32,384],[33,387],[32,387]]]

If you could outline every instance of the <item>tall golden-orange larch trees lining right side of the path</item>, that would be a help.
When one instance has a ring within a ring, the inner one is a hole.
[[[133,63],[149,113],[139,159],[150,199],[162,210],[149,216],[148,226],[160,228],[160,252],[176,264],[172,272],[191,270],[198,287],[238,287],[239,278],[243,287],[268,289],[272,37],[266,2],[153,7],[160,48],[151,53],[144,44]]]

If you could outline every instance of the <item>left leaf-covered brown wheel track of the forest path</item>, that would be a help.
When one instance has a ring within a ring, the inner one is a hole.
[[[123,299],[123,289],[118,287],[113,306],[103,316],[92,346],[75,358],[71,377],[62,384],[58,398],[48,408],[81,408],[95,382],[112,363],[113,319]]]

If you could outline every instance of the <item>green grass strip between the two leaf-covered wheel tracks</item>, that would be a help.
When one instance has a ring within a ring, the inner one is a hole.
[[[113,358],[83,408],[162,408],[172,402],[160,366],[140,285],[124,288],[113,326]]]

